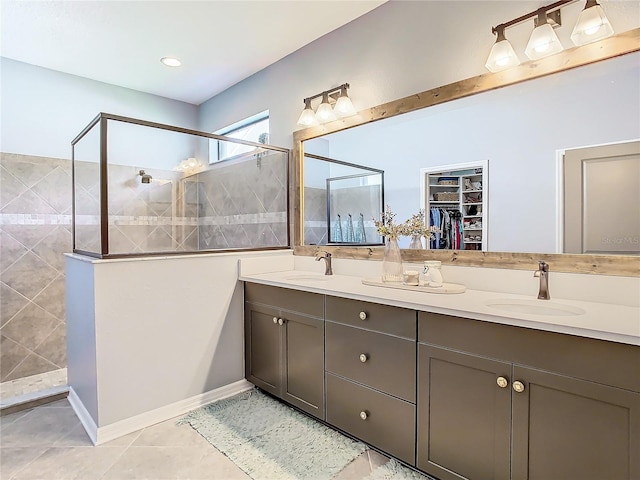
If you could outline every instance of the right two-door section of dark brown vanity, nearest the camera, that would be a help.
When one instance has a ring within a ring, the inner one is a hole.
[[[640,350],[419,314],[417,466],[441,480],[640,478]]]

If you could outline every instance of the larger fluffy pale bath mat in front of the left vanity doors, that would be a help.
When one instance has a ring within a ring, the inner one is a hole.
[[[258,390],[194,410],[179,423],[256,480],[329,480],[366,449]]]

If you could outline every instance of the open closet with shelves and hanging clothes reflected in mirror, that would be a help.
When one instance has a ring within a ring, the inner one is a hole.
[[[423,170],[425,212],[444,233],[430,248],[487,250],[486,167],[449,167]]]

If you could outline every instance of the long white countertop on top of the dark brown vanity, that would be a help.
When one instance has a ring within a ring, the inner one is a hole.
[[[324,278],[323,278],[324,277]],[[454,315],[518,327],[578,335],[631,345],[640,345],[640,308],[577,300],[536,298],[508,293],[469,290],[459,294],[436,294],[363,285],[362,278],[347,275],[318,275],[317,272],[286,270],[241,274],[240,280],[291,288],[373,303]],[[508,312],[491,303],[523,302],[543,306],[581,309],[580,315],[539,315]]]

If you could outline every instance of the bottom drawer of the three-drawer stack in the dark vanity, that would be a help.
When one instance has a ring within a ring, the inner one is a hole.
[[[411,465],[415,465],[415,408],[327,374],[327,422]]]

